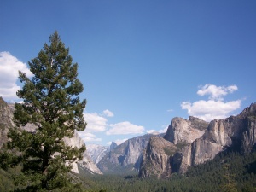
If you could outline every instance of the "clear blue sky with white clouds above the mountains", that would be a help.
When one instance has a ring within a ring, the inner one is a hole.
[[[57,30],[79,63],[86,144],[221,119],[256,102],[256,1],[0,2],[0,96]]]

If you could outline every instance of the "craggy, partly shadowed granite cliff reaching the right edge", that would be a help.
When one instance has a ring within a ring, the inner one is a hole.
[[[226,149],[248,153],[255,143],[256,103],[237,116],[212,120],[201,138],[183,148],[179,172],[186,172],[189,166],[212,160]]]

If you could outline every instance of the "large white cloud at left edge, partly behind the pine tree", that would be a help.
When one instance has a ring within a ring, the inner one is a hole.
[[[19,77],[18,71],[26,73],[27,77],[32,77],[26,63],[19,61],[15,56],[9,52],[0,52],[0,96],[5,100],[17,100],[17,90],[20,86],[16,84]]]

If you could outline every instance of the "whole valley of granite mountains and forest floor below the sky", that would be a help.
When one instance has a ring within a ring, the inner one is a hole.
[[[3,148],[14,125],[13,108],[2,98],[0,104]],[[32,125],[24,129],[33,131]],[[76,132],[64,141],[78,148],[83,144]],[[84,191],[220,191],[232,176],[229,182],[236,191],[255,191],[255,143],[253,103],[227,119],[208,123],[195,117],[173,118],[164,134],[133,137],[109,147],[88,145],[82,160],[73,163],[71,177]],[[16,189],[14,172],[19,168],[1,169],[1,191]]]

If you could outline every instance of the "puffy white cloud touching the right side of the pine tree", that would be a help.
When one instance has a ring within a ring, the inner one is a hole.
[[[86,131],[100,132],[105,131],[108,119],[100,116],[97,113],[84,113],[84,119],[87,123]]]

